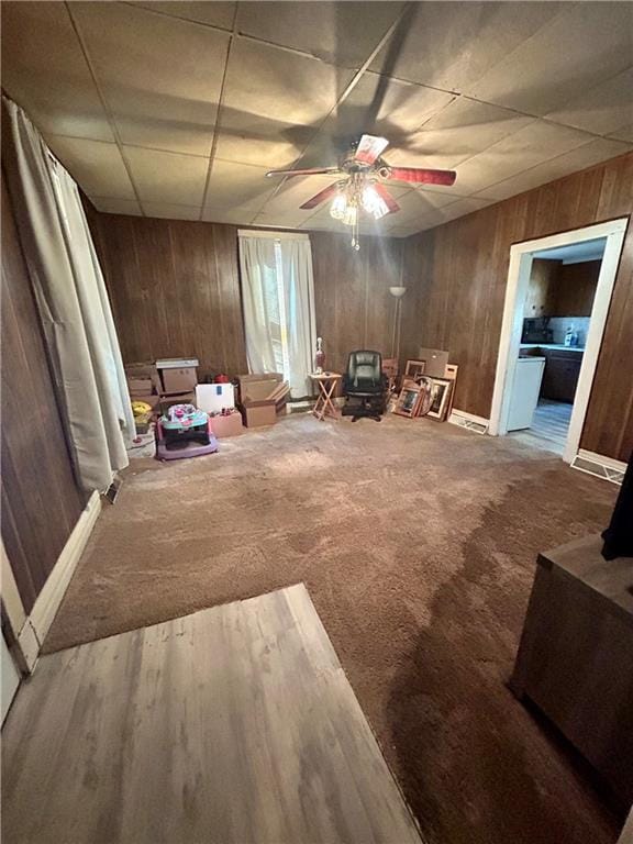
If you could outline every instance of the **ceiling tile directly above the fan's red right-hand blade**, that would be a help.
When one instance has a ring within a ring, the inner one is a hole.
[[[385,158],[402,166],[452,169],[533,122],[534,118],[462,97],[401,146],[388,149]]]

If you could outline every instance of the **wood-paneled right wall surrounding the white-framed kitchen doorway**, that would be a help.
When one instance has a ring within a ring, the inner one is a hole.
[[[407,238],[404,285],[415,288],[404,346],[447,348],[459,365],[455,407],[490,415],[510,246],[630,216],[633,154],[573,174]],[[618,270],[581,446],[618,459],[633,449],[633,231]]]

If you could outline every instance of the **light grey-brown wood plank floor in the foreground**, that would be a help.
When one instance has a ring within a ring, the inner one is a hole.
[[[303,585],[42,658],[4,844],[420,844]]]

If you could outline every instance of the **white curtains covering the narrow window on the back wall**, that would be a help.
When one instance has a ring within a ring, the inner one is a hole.
[[[240,232],[240,268],[249,371],[282,371],[293,398],[310,396],[316,329],[309,236]]]

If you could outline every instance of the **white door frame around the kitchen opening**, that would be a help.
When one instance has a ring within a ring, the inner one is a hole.
[[[589,331],[587,333],[585,354],[582,355],[580,376],[574,398],[563,459],[565,463],[571,463],[578,454],[580,435],[585,424],[585,417],[587,415],[591,385],[596,374],[628,224],[629,218],[624,216],[606,223],[597,223],[584,226],[582,229],[551,234],[533,241],[523,241],[510,247],[510,266],[508,269],[508,285],[506,287],[503,321],[501,324],[499,356],[497,358],[495,390],[490,410],[489,433],[492,436],[503,436],[508,433],[510,393],[521,345],[523,306],[528,296],[533,253],[604,237],[607,243],[604,244],[604,254],[602,255],[596,296],[591,308]]]

